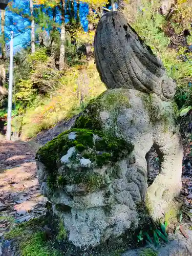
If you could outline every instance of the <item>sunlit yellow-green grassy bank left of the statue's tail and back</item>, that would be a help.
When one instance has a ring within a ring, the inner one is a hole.
[[[61,120],[78,114],[91,98],[105,90],[94,64],[73,67],[58,80],[58,89],[49,95],[37,96],[25,113],[13,119],[14,130],[22,129],[22,137],[33,138]]]

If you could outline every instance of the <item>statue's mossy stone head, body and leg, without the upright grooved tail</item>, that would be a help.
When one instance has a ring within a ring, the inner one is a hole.
[[[151,216],[162,217],[181,188],[182,146],[172,102],[136,90],[109,90],[88,105],[75,127],[37,154],[41,193],[55,205],[69,240],[96,246],[136,228],[137,205],[145,199]],[[80,144],[85,136],[89,145]],[[153,145],[161,168],[147,191],[145,155]]]

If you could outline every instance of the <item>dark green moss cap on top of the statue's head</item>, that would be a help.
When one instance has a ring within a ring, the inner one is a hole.
[[[73,139],[70,138],[71,135]],[[60,160],[72,147],[75,150],[69,161],[62,163]],[[41,147],[36,158],[46,166],[48,185],[52,190],[81,184],[91,192],[105,186],[108,180],[106,174],[95,173],[94,168],[114,165],[118,160],[129,156],[133,148],[131,143],[120,138],[109,138],[99,131],[71,129]],[[58,173],[59,167],[62,170]]]

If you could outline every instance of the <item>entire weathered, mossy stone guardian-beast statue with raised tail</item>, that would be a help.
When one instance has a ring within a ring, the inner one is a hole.
[[[162,62],[118,12],[100,19],[95,60],[110,90],[36,156],[41,193],[80,247],[129,234],[140,225],[144,206],[157,220],[181,188],[175,84]],[[145,156],[152,146],[160,170],[147,188]]]

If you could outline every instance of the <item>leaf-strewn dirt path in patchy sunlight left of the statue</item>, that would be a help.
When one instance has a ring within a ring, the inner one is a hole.
[[[36,177],[36,150],[28,142],[0,141],[0,239],[14,220],[29,220],[45,206]]]

